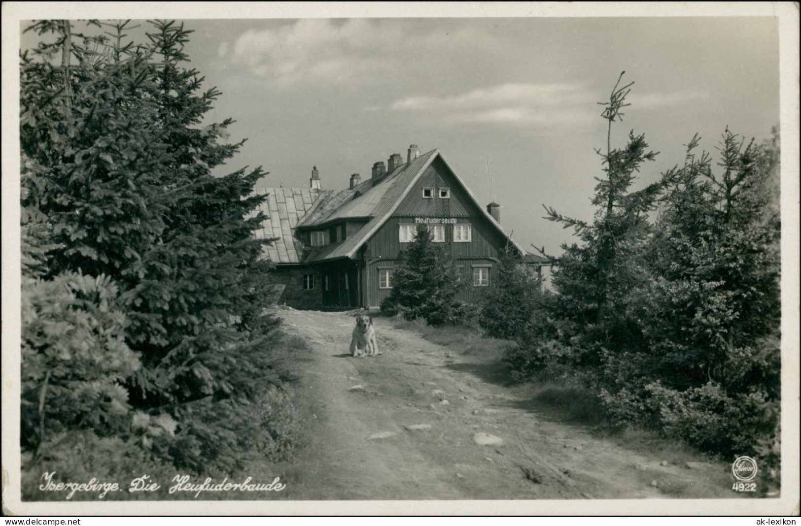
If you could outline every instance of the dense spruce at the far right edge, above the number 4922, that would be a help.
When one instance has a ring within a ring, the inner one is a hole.
[[[670,436],[764,456],[779,440],[778,154],[730,130],[719,151],[718,170],[701,155],[672,188],[649,243],[638,314],[658,367],[638,404]]]

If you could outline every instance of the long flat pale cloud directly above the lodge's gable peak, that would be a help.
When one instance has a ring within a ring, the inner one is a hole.
[[[430,116],[444,122],[512,126],[573,126],[598,116],[594,95],[579,84],[506,83],[445,97],[413,96],[390,109]]]

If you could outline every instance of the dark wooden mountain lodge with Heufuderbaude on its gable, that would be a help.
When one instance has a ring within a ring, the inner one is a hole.
[[[367,180],[351,175],[345,190],[323,190],[315,167],[308,188],[256,191],[268,195],[256,236],[276,239],[265,251],[276,263],[277,303],[300,309],[378,308],[420,223],[472,284],[462,292],[470,300],[493,286],[509,240],[499,205],[482,207],[439,151],[421,154],[416,145],[406,159],[373,164]],[[545,260],[512,244],[539,271]]]

